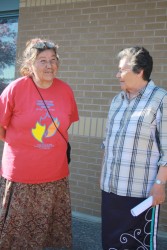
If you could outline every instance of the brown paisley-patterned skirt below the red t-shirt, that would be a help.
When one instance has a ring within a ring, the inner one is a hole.
[[[0,249],[72,249],[68,178],[41,184],[0,179]]]

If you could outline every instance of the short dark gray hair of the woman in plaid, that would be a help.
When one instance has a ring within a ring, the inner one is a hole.
[[[143,70],[143,79],[149,81],[153,69],[153,59],[148,50],[143,47],[130,47],[121,50],[118,53],[118,59],[127,58],[134,73],[140,73]]]

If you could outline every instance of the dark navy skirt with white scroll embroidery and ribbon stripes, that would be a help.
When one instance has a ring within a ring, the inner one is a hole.
[[[103,250],[155,250],[159,206],[137,217],[130,210],[143,198],[118,196],[102,191]]]

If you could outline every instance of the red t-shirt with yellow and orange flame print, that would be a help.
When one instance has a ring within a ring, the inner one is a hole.
[[[56,126],[68,141],[68,128],[78,120],[70,86],[59,79],[39,91]],[[55,128],[28,77],[9,84],[0,96],[0,125],[7,128],[2,176],[21,183],[42,183],[68,176],[67,143]]]

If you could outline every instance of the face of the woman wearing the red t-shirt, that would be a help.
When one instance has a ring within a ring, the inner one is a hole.
[[[58,60],[52,49],[42,51],[32,65],[35,80],[40,84],[51,84],[58,70]]]

